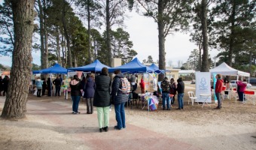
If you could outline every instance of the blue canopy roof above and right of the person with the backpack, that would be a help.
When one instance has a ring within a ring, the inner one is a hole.
[[[121,65],[116,68],[110,68],[110,69],[108,69],[108,71],[110,73],[112,73],[117,69],[120,70],[122,73],[130,73],[130,74],[154,71],[154,69],[148,68],[147,66],[145,66],[141,62],[139,62],[138,58],[134,58],[131,62],[128,62],[125,65]]]

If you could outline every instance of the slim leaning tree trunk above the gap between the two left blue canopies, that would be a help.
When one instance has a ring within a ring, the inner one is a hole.
[[[65,1],[65,0],[63,0]],[[63,3],[63,9],[62,9],[62,24],[63,24],[63,28],[64,28],[64,35],[66,37],[67,40],[67,47],[68,47],[68,64],[67,66],[69,68],[72,68],[72,52],[71,52],[71,47],[70,47],[70,39],[69,39],[69,33],[68,33],[68,29],[67,29],[67,24],[66,24],[66,9],[65,9],[65,2]]]

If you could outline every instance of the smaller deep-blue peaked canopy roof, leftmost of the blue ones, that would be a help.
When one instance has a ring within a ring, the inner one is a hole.
[[[42,69],[40,71],[32,71],[33,74],[67,74],[67,69],[62,68],[59,64],[51,68]]]

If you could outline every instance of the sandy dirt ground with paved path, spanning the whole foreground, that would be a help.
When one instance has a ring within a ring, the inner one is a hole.
[[[256,149],[256,106],[225,99],[221,110],[216,104],[187,104],[184,110],[177,98],[172,110],[126,108],[126,129],[114,130],[114,107],[110,112],[108,133],[99,133],[96,111],[72,114],[72,101],[61,98],[37,98],[29,95],[26,118],[0,119],[0,149]],[[0,98],[0,111],[5,97]],[[96,109],[95,109],[96,110]]]

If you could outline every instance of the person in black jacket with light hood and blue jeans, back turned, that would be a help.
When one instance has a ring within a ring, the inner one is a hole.
[[[72,113],[78,114],[80,113],[78,112],[78,105],[79,105],[80,98],[82,96],[81,89],[83,89],[83,87],[81,86],[81,82],[78,78],[78,75],[75,75],[73,77],[73,80],[70,81],[69,86],[71,88],[71,98],[73,101]]]

